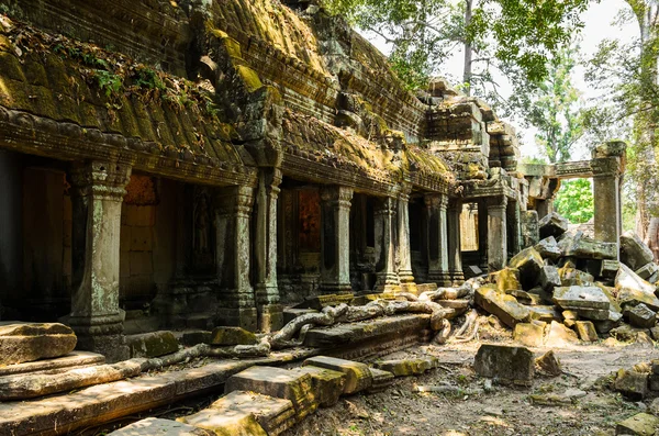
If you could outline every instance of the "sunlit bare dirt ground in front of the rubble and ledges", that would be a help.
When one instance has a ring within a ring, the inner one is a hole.
[[[514,344],[510,334],[500,336],[487,342]],[[384,392],[343,398],[334,407],[319,410],[284,436],[614,435],[617,422],[645,411],[651,402],[625,400],[601,384],[603,378],[621,368],[659,358],[656,346],[607,339],[593,345],[532,348],[536,356],[552,349],[565,373],[536,377],[530,388],[494,384],[490,389],[471,368],[482,342],[418,346],[382,357],[432,355],[439,358],[442,367],[420,377],[396,379]],[[417,387],[446,383],[455,385],[455,391],[416,391]],[[568,389],[584,391],[585,396],[556,406],[534,405],[529,399],[532,394],[560,395]]]

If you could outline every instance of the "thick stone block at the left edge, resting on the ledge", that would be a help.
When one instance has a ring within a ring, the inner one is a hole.
[[[59,323],[0,322],[0,366],[66,356],[76,334]]]

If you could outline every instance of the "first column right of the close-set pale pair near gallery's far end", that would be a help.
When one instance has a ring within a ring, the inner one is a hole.
[[[448,271],[448,232],[446,209],[448,197],[444,194],[427,194],[426,225],[428,241],[426,244],[428,258],[428,281],[440,287],[450,286],[451,278]]]

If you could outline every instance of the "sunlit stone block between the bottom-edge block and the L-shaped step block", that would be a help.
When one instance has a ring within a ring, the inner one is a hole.
[[[256,392],[233,391],[212,403],[209,414],[250,413],[269,436],[279,435],[295,425],[295,409],[290,400]]]

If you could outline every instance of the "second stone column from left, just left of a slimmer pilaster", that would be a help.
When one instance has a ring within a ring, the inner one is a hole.
[[[221,324],[257,329],[257,310],[249,281],[249,217],[254,188],[222,188],[216,194],[216,261]]]

